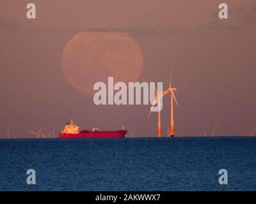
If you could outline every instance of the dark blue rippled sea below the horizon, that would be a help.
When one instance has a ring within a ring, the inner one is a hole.
[[[36,185],[27,184],[28,169]],[[0,140],[0,191],[255,189],[253,137]]]

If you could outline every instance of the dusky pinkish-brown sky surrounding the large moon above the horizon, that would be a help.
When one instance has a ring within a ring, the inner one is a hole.
[[[36,19],[26,5],[36,4]],[[84,129],[128,129],[128,136],[156,136],[157,113],[148,105],[102,105],[70,85],[61,57],[80,32],[125,33],[140,47],[138,82],[163,82],[170,70],[179,107],[175,135],[250,135],[256,128],[256,2],[225,1],[1,1],[0,137],[60,132],[72,118]],[[108,25],[97,27],[97,25]],[[113,59],[115,60],[115,59]],[[86,75],[84,75],[86,81]],[[87,79],[89,80],[89,78]],[[162,128],[170,124],[163,101]],[[256,133],[255,133],[256,134]]]

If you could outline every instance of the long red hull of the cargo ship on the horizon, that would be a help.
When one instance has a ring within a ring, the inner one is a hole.
[[[120,131],[80,131],[78,134],[60,133],[60,138],[125,138],[127,130]]]

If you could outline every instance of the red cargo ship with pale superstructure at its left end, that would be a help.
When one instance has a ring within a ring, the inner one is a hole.
[[[126,134],[127,130],[125,130],[124,126],[123,129],[117,131],[99,131],[99,128],[79,131],[79,126],[71,120],[62,129],[59,138],[125,138]]]

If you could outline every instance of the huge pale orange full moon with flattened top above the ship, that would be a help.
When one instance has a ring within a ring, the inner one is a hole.
[[[136,82],[143,68],[143,55],[128,34],[81,32],[67,43],[61,67],[75,89],[93,95],[93,85],[108,85],[108,77],[127,85]]]

